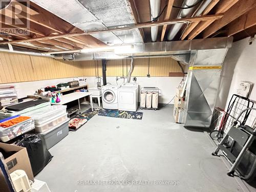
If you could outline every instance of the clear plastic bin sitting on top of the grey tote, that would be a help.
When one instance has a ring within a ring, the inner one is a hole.
[[[51,131],[54,129],[56,125],[59,125],[60,123],[66,121],[68,119],[68,113],[65,113],[61,116],[55,116],[50,121],[46,121],[43,124],[35,124],[35,132],[37,133],[45,133],[47,131]]]

